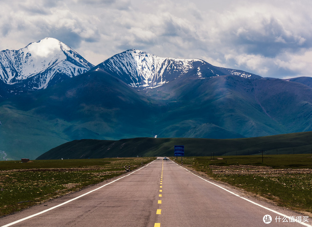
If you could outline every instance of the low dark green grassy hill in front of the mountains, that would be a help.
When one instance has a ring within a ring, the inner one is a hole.
[[[241,139],[133,138],[123,140],[74,140],[37,159],[173,156],[174,145],[184,145],[185,156],[310,154],[312,132]]]

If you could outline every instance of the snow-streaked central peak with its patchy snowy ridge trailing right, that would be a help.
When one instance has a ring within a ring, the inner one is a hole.
[[[158,87],[180,76],[205,79],[230,74],[241,77],[252,75],[241,70],[215,67],[201,59],[164,58],[136,49],[116,54],[96,68],[137,88]]]

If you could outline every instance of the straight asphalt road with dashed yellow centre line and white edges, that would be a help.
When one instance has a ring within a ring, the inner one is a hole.
[[[0,225],[311,226],[312,218],[195,174],[159,158],[117,180],[2,217]]]

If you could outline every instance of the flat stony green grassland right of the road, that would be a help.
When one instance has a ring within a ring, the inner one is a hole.
[[[174,157],[171,157],[174,158]],[[181,163],[181,158],[178,158]],[[261,196],[279,206],[312,214],[312,155],[183,157],[183,166]]]

